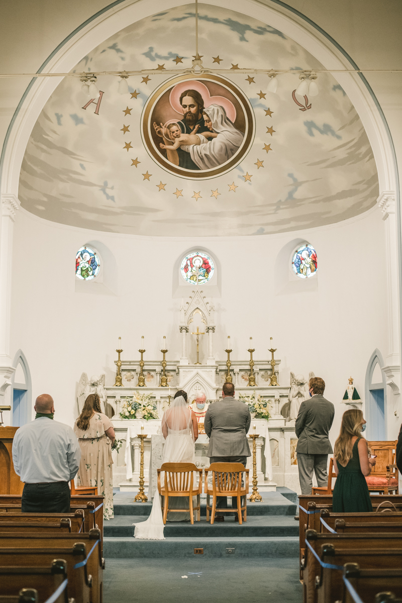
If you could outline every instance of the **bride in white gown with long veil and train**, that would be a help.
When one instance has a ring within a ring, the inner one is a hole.
[[[187,406],[183,396],[178,396],[165,411],[162,418],[162,434],[165,438],[163,463],[195,463],[195,440],[198,438],[198,424],[195,414]],[[164,473],[160,482],[163,484]],[[188,508],[188,500],[181,497],[169,499],[169,508]],[[169,511],[168,521],[190,519],[190,513]],[[135,523],[134,537],[144,540],[163,540],[163,519],[159,493],[156,491],[151,514],[145,522]]]

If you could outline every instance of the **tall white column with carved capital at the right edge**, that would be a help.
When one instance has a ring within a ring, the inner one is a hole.
[[[397,216],[395,215],[395,193],[382,192],[377,199],[385,222],[386,239],[386,276],[387,276],[387,327],[388,350],[385,366],[382,370],[386,374],[387,406],[388,406],[388,434],[389,440],[398,437],[397,421],[401,414],[401,373],[400,373],[400,303],[399,299],[399,274],[398,274],[398,238]]]

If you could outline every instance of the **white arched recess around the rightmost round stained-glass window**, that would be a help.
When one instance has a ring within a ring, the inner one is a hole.
[[[297,248],[304,243],[310,243],[314,247],[311,241],[297,238],[287,242],[279,251],[274,269],[275,295],[318,291],[318,274],[310,279],[300,279],[292,270],[292,257]]]

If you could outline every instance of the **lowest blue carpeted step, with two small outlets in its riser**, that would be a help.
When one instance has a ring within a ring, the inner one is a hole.
[[[204,557],[228,557],[227,548],[234,549],[236,557],[298,557],[299,538],[283,537],[216,537],[165,538],[165,540],[136,540],[136,538],[104,538],[105,558],[141,557],[195,557],[194,549],[203,549],[199,555],[202,567]]]

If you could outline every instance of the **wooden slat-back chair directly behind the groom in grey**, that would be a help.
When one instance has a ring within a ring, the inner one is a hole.
[[[212,472],[212,490],[208,485],[208,473]],[[242,486],[242,473],[246,474],[246,485]],[[205,470],[204,493],[207,494],[207,521],[209,512],[211,513],[211,523],[215,521],[216,497],[217,496],[236,496],[237,497],[237,516],[239,525],[242,525],[242,511],[244,511],[244,521],[247,521],[247,494],[248,494],[248,469],[245,469],[242,463],[212,463]],[[209,496],[212,496],[212,507],[209,505]],[[241,499],[244,496],[244,507]],[[233,508],[221,509],[219,512],[233,513]]]

